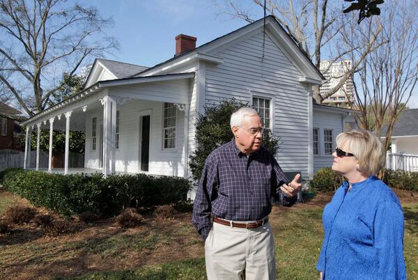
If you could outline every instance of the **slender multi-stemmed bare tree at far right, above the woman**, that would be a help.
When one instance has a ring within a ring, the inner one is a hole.
[[[418,80],[418,6],[412,2],[387,3],[380,17],[375,17],[356,38],[370,40],[373,31],[381,28],[377,40],[388,42],[362,61],[352,104],[359,110],[357,125],[385,137],[385,150],[389,149],[394,124]],[[387,130],[382,135],[384,125]]]

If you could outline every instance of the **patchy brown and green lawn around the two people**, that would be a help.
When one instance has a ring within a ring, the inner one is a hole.
[[[7,201],[10,198],[5,192],[0,193],[1,207],[13,204]],[[317,279],[323,204],[273,207],[270,223],[278,279]],[[418,199],[404,203],[403,211],[408,279],[418,279]],[[107,220],[61,237],[42,235],[37,228],[16,228],[8,235],[0,235],[0,277],[206,279],[203,242],[190,219],[190,213],[161,221],[149,218],[146,225],[126,231]]]

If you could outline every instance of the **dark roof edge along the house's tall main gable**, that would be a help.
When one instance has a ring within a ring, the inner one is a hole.
[[[295,42],[295,39],[286,32],[286,30],[283,28],[283,26],[281,26],[281,24],[279,24],[279,22],[277,21],[276,17],[274,17],[274,15],[268,15],[267,17],[263,17],[260,20],[256,20],[255,22],[251,22],[251,24],[247,24],[246,26],[242,26],[240,29],[236,29],[235,31],[232,31],[230,33],[225,34],[224,36],[221,36],[219,38],[216,38],[215,40],[207,42],[206,44],[203,44],[199,47],[196,47],[196,49],[189,50],[187,52],[184,52],[183,54],[179,54],[178,56],[174,56],[173,58],[168,59],[167,61],[164,61],[162,63],[154,65],[153,67],[147,68],[147,69],[145,69],[141,72],[137,72],[136,74],[132,75],[132,77],[138,77],[140,75],[144,75],[144,74],[146,74],[146,72],[149,72],[150,70],[155,70],[156,68],[160,68],[164,65],[168,65],[169,63],[171,63],[173,61],[183,59],[183,58],[185,58],[185,56],[188,56],[189,54],[200,52],[203,49],[206,49],[206,48],[210,47],[211,45],[217,44],[218,42],[222,41],[224,38],[231,37],[231,36],[233,36],[237,33],[242,32],[245,29],[249,29],[251,26],[261,24],[261,22],[264,22],[264,21],[266,23],[272,22],[276,27],[278,27],[279,30],[281,30],[285,34],[286,40],[288,41],[288,43],[290,45],[292,45],[291,47],[297,49],[297,52],[302,54],[302,59],[304,59],[304,63],[307,63],[309,65],[309,67],[311,68],[311,70],[316,72],[316,75],[318,75],[318,77],[320,77],[320,79],[325,80],[325,77],[319,71],[319,69],[316,68],[314,63],[312,63],[312,61],[311,61],[311,59],[309,59],[309,56],[307,55],[307,53],[304,52],[304,50],[301,49],[299,45],[297,45],[297,42]]]

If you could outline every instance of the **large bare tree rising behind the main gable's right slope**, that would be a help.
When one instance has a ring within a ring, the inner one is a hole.
[[[254,22],[251,16],[251,9],[242,8],[242,1],[238,0],[212,0],[223,13],[240,17],[247,22]],[[263,0],[252,0],[258,8],[264,7]],[[344,73],[340,78],[338,85],[330,88],[329,91],[320,95],[319,87],[314,86],[314,99],[321,103],[326,98],[336,93],[347,79],[353,77],[362,60],[373,52],[376,45],[376,38],[371,37],[369,42],[362,42],[366,45],[344,45],[343,49],[341,40],[344,40],[343,29],[357,31],[357,17],[353,13],[343,14],[342,1],[327,0],[266,0],[266,10],[269,14],[274,15],[279,23],[284,26],[288,33],[295,39],[297,45],[304,50],[313,61],[314,65],[319,69],[320,61],[323,60],[323,53],[331,53],[332,50],[338,49],[339,52],[332,52],[327,60],[330,64],[323,70],[326,72],[336,61],[342,59],[354,59],[353,66]],[[337,48],[338,47],[338,48]],[[355,52],[361,49],[362,52]]]

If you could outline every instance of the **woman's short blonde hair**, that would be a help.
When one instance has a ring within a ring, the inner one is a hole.
[[[375,134],[366,130],[338,134],[336,146],[355,155],[359,162],[359,171],[366,176],[375,175],[385,164],[382,143]]]

